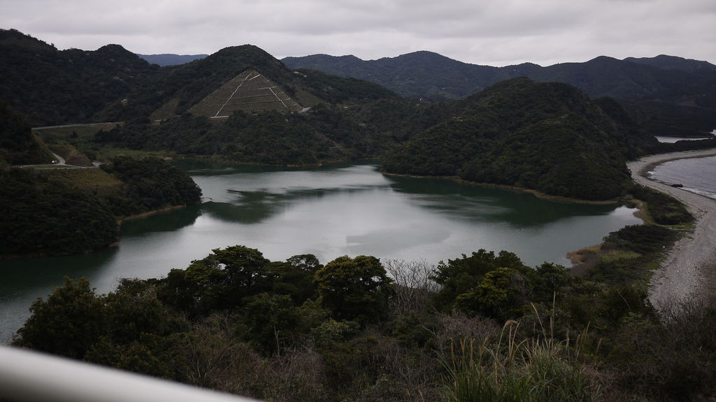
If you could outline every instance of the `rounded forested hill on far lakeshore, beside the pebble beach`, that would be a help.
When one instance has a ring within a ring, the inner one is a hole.
[[[410,139],[383,167],[584,200],[618,197],[630,180],[625,161],[656,140],[624,121],[616,102],[600,102],[604,109],[567,84],[500,82],[460,102],[451,119]]]

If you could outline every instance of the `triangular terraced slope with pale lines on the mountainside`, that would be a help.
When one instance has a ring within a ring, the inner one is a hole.
[[[256,70],[246,70],[195,104],[189,112],[212,118],[228,117],[235,110],[261,112],[301,109],[281,87]]]

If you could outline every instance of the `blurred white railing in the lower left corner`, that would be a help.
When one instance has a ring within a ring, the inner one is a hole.
[[[253,401],[81,361],[0,346],[0,401],[4,398],[17,402]]]

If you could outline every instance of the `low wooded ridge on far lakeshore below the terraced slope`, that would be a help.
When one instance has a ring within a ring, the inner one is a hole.
[[[358,122],[349,110],[327,104],[301,114],[237,111],[222,123],[190,114],[159,125],[134,122],[97,132],[95,141],[267,165],[316,165],[376,157],[394,142],[390,137],[378,137],[374,127]]]

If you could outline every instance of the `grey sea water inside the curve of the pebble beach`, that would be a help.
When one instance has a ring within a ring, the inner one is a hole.
[[[716,157],[672,160],[649,172],[650,176],[669,185],[716,199]]]

